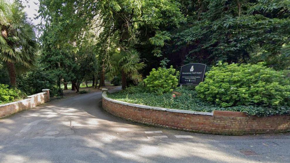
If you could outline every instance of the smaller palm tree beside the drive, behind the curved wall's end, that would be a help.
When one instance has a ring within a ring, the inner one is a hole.
[[[135,83],[142,81],[142,75],[139,70],[145,67],[144,62],[141,62],[140,54],[136,50],[130,51],[114,51],[110,59],[111,70],[107,73],[109,79],[114,76],[122,76],[122,89],[127,86],[127,78]]]

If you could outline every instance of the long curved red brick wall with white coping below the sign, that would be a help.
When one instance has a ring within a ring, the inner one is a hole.
[[[103,92],[102,106],[121,118],[164,128],[199,133],[243,135],[290,131],[290,116],[257,117],[241,112],[213,113],[149,107],[110,99]]]

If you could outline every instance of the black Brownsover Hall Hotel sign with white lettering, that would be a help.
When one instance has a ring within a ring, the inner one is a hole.
[[[181,85],[198,85],[203,81],[205,64],[187,64],[181,67],[179,84]]]

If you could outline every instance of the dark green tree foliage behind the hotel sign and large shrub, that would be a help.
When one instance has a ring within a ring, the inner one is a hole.
[[[265,61],[276,70],[290,68],[289,0],[180,0],[186,23],[170,29],[172,52],[185,63],[215,65]],[[160,49],[161,51],[163,49]],[[175,65],[175,55],[168,59]],[[180,61],[176,64],[180,65]]]

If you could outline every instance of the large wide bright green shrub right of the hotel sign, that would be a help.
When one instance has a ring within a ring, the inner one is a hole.
[[[198,97],[221,107],[290,106],[290,81],[285,73],[258,64],[222,64],[206,73],[196,87]]]

